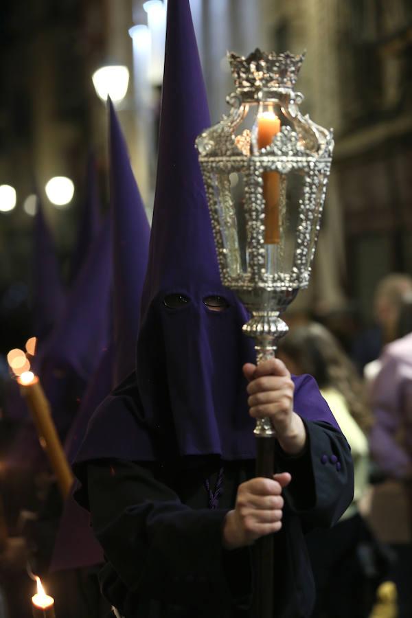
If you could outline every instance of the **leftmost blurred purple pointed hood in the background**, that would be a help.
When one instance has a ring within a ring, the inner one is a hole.
[[[33,334],[43,343],[62,314],[65,293],[60,281],[56,250],[38,200],[34,218]]]

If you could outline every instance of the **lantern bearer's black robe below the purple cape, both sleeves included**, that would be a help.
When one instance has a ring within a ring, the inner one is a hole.
[[[314,584],[304,534],[336,522],[353,496],[345,437],[328,423],[305,424],[303,455],[290,457],[277,446],[275,471],[290,472],[293,481],[284,490],[282,529],[274,535],[276,618],[310,615]],[[253,547],[223,549],[222,523],[238,485],[255,476],[254,466],[198,457],[83,465],[93,529],[106,556],[102,592],[124,617],[251,617]],[[221,468],[214,508],[206,481],[213,490]]]

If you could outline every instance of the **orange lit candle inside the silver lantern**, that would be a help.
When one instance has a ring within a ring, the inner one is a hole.
[[[258,147],[266,148],[272,143],[273,137],[280,130],[280,120],[273,108],[258,115]],[[279,174],[264,172],[263,174],[264,209],[264,242],[279,244]]]

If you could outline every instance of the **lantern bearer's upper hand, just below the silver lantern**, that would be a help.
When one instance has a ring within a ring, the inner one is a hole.
[[[246,363],[243,373],[249,380],[249,413],[253,418],[271,419],[280,446],[289,455],[298,455],[306,444],[306,429],[293,411],[295,385],[279,358],[258,366]]]

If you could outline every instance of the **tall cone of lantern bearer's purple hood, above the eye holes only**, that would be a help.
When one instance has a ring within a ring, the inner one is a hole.
[[[194,141],[210,126],[188,0],[171,0],[165,45],[159,160],[142,313],[163,288],[220,283]]]

